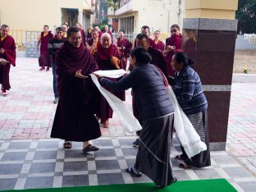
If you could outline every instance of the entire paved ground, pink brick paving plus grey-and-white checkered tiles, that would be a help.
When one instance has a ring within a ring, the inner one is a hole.
[[[69,185],[103,185],[149,181],[125,172],[135,162],[135,139],[114,117],[103,137],[94,141],[101,150],[87,155],[81,144],[62,149],[62,141],[48,139],[56,105],[51,72],[39,71],[37,60],[18,58],[11,67],[11,91],[0,97],[0,190]],[[226,152],[212,152],[212,166],[183,170],[173,157],[180,152],[176,139],[171,161],[179,180],[226,178],[238,191],[256,191],[256,84],[232,85]],[[130,94],[126,94],[130,105]]]

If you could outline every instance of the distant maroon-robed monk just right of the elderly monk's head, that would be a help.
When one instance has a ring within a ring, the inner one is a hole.
[[[123,63],[124,69],[127,66],[127,58],[130,56],[131,44],[129,39],[124,37],[124,32],[120,30],[118,32],[119,37],[117,38],[116,45],[117,48],[121,51],[121,61]]]

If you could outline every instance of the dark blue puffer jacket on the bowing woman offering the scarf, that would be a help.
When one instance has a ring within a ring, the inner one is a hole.
[[[162,75],[152,64],[139,64],[129,75],[113,82],[102,78],[101,85],[114,91],[132,88],[136,110],[142,119],[162,117],[174,112]]]

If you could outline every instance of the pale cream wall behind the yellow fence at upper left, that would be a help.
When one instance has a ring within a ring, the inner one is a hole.
[[[0,23],[11,29],[43,30],[62,23],[61,8],[88,9],[90,0],[0,0]]]

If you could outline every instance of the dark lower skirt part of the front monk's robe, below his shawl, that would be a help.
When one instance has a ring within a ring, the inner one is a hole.
[[[93,108],[79,98],[60,97],[53,121],[52,138],[88,141],[101,136]]]

